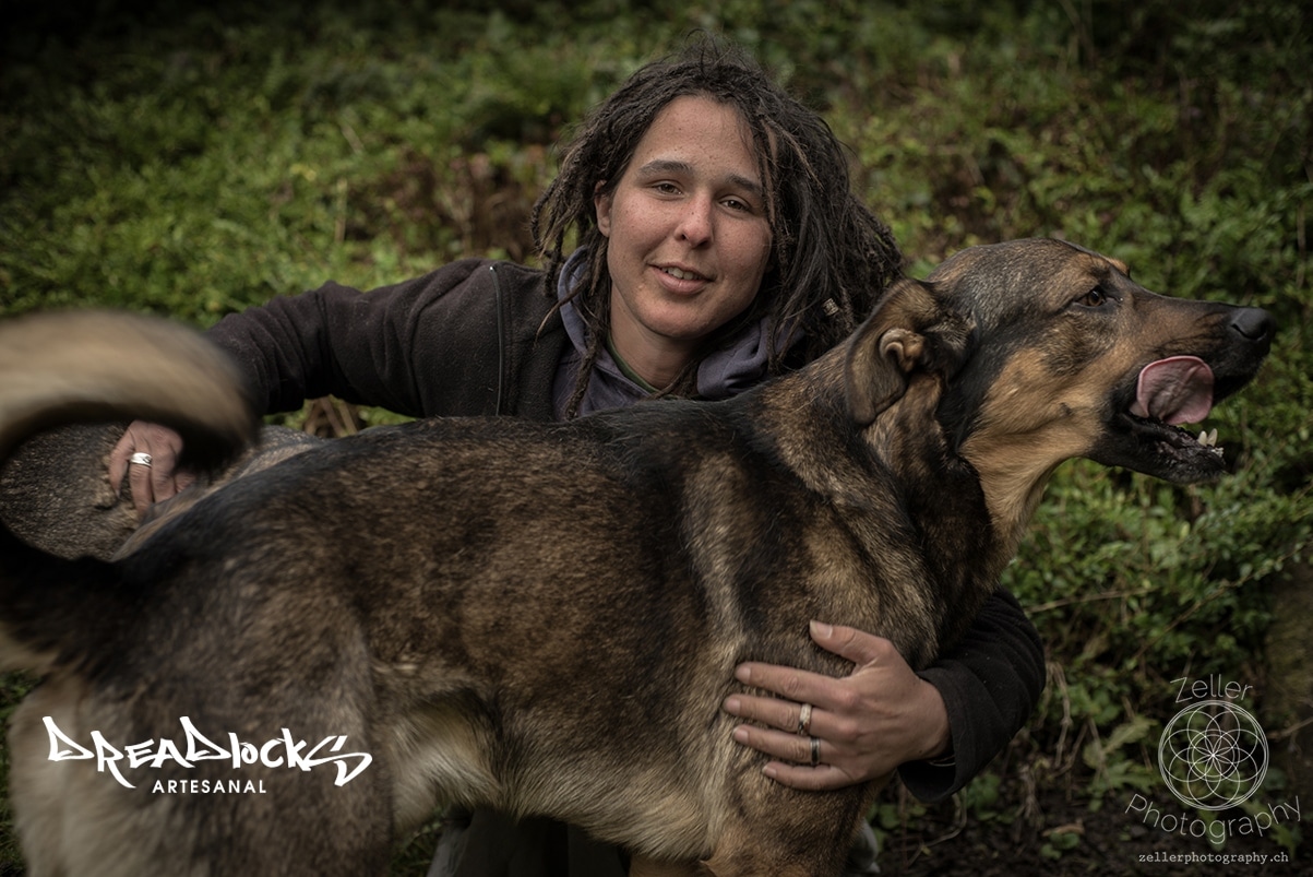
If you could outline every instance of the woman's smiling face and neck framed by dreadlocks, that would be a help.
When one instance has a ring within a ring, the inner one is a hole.
[[[608,238],[612,341],[634,371],[666,387],[709,333],[748,306],[771,258],[747,128],[733,107],[676,97],[595,205]]]

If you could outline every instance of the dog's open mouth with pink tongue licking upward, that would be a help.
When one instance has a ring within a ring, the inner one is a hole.
[[[1136,443],[1129,464],[1173,481],[1199,481],[1225,468],[1217,430],[1196,434],[1182,427],[1199,423],[1213,409],[1213,371],[1197,356],[1171,356],[1145,366],[1136,397],[1121,415]]]

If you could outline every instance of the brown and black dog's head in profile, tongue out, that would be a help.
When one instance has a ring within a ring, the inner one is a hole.
[[[853,337],[850,410],[869,425],[935,376],[939,425],[1015,519],[1070,458],[1178,483],[1221,473],[1213,437],[1180,427],[1254,377],[1272,334],[1263,310],[1152,293],[1070,243],[973,247],[899,281]]]

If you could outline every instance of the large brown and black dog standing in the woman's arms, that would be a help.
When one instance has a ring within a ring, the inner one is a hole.
[[[924,667],[1064,460],[1221,475],[1179,425],[1272,334],[1016,241],[726,401],[365,430],[221,477],[113,560],[5,526],[0,659],[43,677],[9,735],[32,874],[383,873],[439,802],[578,824],[634,873],[838,874],[878,782],[764,777],[721,710],[734,668],[850,672],[814,618]],[[0,373],[3,456],[108,418],[198,465],[252,440],[231,367],[167,322],[16,318]]]

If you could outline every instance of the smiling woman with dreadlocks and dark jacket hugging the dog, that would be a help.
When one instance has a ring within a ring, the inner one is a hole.
[[[901,263],[825,122],[716,45],[649,64],[592,113],[534,208],[534,237],[542,271],[465,260],[368,295],[327,284],[210,337],[267,412],[334,393],[418,417],[563,419],[650,396],[722,398],[809,362],[856,327]],[[134,423],[112,477],[126,471],[142,505],[171,496],[189,477],[173,471],[179,450],[176,434]],[[154,465],[130,464],[135,454]],[[780,698],[725,703],[769,726],[735,736],[790,786],[898,768],[918,797],[943,798],[1043,686],[1037,636],[1007,594],[920,675],[881,638],[826,625],[813,636],[855,672],[748,664],[738,677]],[[624,873],[616,851],[544,820],[474,814],[444,848],[435,874]]]

